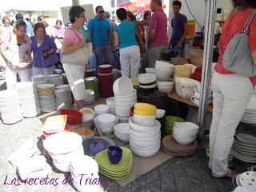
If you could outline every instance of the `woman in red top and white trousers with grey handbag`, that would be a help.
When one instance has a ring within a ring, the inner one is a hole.
[[[234,34],[242,32],[246,19],[256,7],[253,0],[233,0],[234,11],[222,27],[219,42],[218,64],[214,68],[212,88],[214,91],[213,120],[210,127],[210,162],[212,175],[217,178],[232,177],[234,171],[228,168],[227,157],[234,142],[235,130],[255,86],[255,77],[246,78],[226,70],[222,64],[223,54]],[[250,23],[249,44],[256,64],[256,17]],[[241,63],[246,65],[246,63]]]

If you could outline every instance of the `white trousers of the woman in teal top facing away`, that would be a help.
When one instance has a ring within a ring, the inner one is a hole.
[[[138,46],[128,46],[119,50],[122,76],[138,77],[140,50]]]

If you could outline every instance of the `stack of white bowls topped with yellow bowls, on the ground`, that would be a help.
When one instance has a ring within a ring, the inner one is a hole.
[[[130,149],[141,157],[150,157],[160,149],[161,124],[156,117],[157,108],[146,103],[136,103],[134,116],[129,118]]]

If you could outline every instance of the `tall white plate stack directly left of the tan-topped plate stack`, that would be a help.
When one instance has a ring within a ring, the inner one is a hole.
[[[38,93],[32,82],[18,82],[16,86],[23,117],[30,118],[41,113]]]

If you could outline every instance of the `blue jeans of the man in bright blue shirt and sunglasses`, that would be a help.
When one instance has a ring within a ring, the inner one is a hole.
[[[116,68],[116,64],[114,62],[114,55],[111,50],[110,45],[107,46],[95,46],[95,56],[97,60],[97,66],[102,65],[104,60],[106,60],[107,64],[110,64],[112,68]]]

